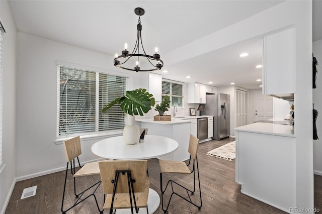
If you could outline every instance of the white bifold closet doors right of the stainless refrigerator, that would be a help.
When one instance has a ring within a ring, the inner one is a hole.
[[[236,89],[236,127],[248,124],[248,92]]]

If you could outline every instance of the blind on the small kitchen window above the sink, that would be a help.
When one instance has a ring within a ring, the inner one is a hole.
[[[162,95],[168,95],[170,97],[170,106],[177,106],[183,108],[183,84],[162,81]]]

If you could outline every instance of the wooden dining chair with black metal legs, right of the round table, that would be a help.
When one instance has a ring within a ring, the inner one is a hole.
[[[188,148],[188,152],[190,153],[190,159],[189,159],[188,164],[186,164],[183,161],[159,159],[162,209],[164,210],[165,213],[168,213],[168,208],[169,208],[172,196],[174,194],[178,195],[179,197],[183,198],[184,200],[188,201],[189,203],[197,206],[198,209],[201,209],[202,200],[201,200],[200,176],[199,176],[199,167],[198,167],[198,158],[197,158],[198,145],[199,145],[199,139],[193,135],[190,135],[189,148]],[[190,165],[192,159],[193,159],[193,163],[192,163],[192,167],[190,167],[192,169],[190,170],[189,165]],[[197,167],[197,169],[195,166]],[[191,199],[191,196],[189,195],[189,192],[191,195],[193,195],[194,192],[196,191],[196,171],[197,171],[198,184],[199,184],[200,205],[197,205],[196,203],[194,203]],[[162,178],[163,178],[164,173],[182,173],[182,174],[192,174],[193,173],[193,189],[191,189],[191,187],[190,188],[186,187],[186,186],[184,186],[184,185],[180,184],[179,182],[176,182],[172,179],[168,180],[166,188],[163,189]],[[177,186],[179,186],[179,188],[184,189],[187,192],[189,199],[187,199],[183,195],[176,192],[174,190],[173,184],[176,184]],[[171,193],[170,199],[168,201],[168,204],[166,205],[166,208],[164,208],[164,198],[163,197],[164,197],[164,194],[165,194],[168,186],[171,186],[172,193]]]

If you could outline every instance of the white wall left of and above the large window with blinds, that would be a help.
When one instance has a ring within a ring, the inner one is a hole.
[[[60,171],[66,160],[56,145],[56,60],[105,70],[117,69],[112,56],[18,32],[17,180]],[[119,71],[119,70],[115,70]],[[82,139],[82,162],[97,159],[91,152],[100,140]]]

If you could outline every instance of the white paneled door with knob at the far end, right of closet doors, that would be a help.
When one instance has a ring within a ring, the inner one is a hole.
[[[273,97],[265,95],[262,90],[255,90],[254,121],[269,120],[273,118]]]

